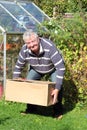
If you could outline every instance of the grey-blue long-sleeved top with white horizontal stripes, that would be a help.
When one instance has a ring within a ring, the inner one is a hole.
[[[40,52],[35,55],[24,44],[19,52],[19,57],[13,72],[13,78],[18,78],[21,75],[21,69],[25,63],[41,74],[49,74],[56,69],[56,88],[60,89],[64,77],[64,60],[60,51],[56,48],[55,44],[45,38],[40,38]]]

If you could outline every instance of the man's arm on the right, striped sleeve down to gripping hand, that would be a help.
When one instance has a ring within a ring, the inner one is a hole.
[[[61,55],[61,53],[57,50],[55,46],[51,47],[51,60],[54,64],[54,67],[56,69],[56,86],[55,89],[52,91],[51,95],[53,96],[53,104],[57,103],[58,101],[58,94],[61,89],[63,78],[64,78],[64,72],[65,72],[65,65],[64,65],[64,59]]]

